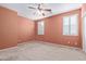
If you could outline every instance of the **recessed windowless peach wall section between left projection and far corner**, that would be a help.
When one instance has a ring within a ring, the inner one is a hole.
[[[34,40],[35,22],[26,17],[19,16],[17,25],[17,42]]]

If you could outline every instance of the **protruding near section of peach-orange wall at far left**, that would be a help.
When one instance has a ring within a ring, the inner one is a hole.
[[[17,13],[0,7],[0,49],[17,44]]]

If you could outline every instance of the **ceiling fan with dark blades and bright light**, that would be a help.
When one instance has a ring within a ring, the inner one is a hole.
[[[39,4],[37,5],[37,8],[35,8],[35,7],[28,7],[28,9],[38,10],[44,16],[46,15],[45,12],[52,13],[52,12],[51,12],[51,9],[44,9],[44,8],[41,8],[41,5],[42,5],[42,3],[39,3]]]

